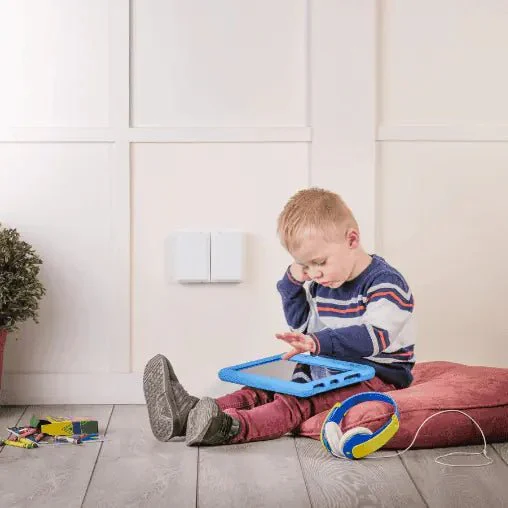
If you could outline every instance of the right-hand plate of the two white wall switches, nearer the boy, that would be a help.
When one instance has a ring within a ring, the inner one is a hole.
[[[212,282],[240,282],[243,279],[245,235],[241,231],[215,231],[211,234]]]

